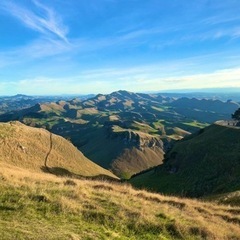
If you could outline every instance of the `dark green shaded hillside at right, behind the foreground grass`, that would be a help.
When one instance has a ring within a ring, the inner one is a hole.
[[[138,187],[187,196],[236,191],[240,189],[239,149],[239,129],[211,125],[176,143],[164,166],[131,182]]]

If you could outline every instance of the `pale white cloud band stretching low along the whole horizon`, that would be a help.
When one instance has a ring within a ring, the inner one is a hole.
[[[145,67],[145,70],[147,67]],[[149,68],[150,69],[150,68]],[[170,74],[169,74],[170,75]],[[240,68],[216,70],[204,74],[163,77],[161,73],[144,72],[139,69],[97,69],[82,72],[68,78],[35,77],[18,82],[2,82],[4,89],[12,89],[12,94],[80,94],[110,93],[119,89],[133,92],[163,91],[171,89],[240,87]]]

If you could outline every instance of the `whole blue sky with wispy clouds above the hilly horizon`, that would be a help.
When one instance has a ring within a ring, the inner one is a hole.
[[[240,87],[239,0],[0,0],[0,95]]]

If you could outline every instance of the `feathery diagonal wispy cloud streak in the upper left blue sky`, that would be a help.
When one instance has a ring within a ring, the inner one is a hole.
[[[0,2],[0,8],[20,20],[25,26],[46,36],[55,36],[68,42],[67,27],[60,16],[37,0],[32,0],[32,8],[19,5],[11,0]]]

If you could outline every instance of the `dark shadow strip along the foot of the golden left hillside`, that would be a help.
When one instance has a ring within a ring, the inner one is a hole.
[[[77,179],[89,179],[89,180],[107,180],[107,181],[114,181],[114,182],[119,182],[119,179],[110,177],[108,175],[104,175],[104,174],[99,174],[96,176],[82,176],[79,174],[75,174],[65,168],[61,168],[61,167],[46,167],[46,166],[42,166],[41,170],[45,173],[50,173],[56,176],[60,176],[60,177],[70,177],[70,178],[77,178]]]

